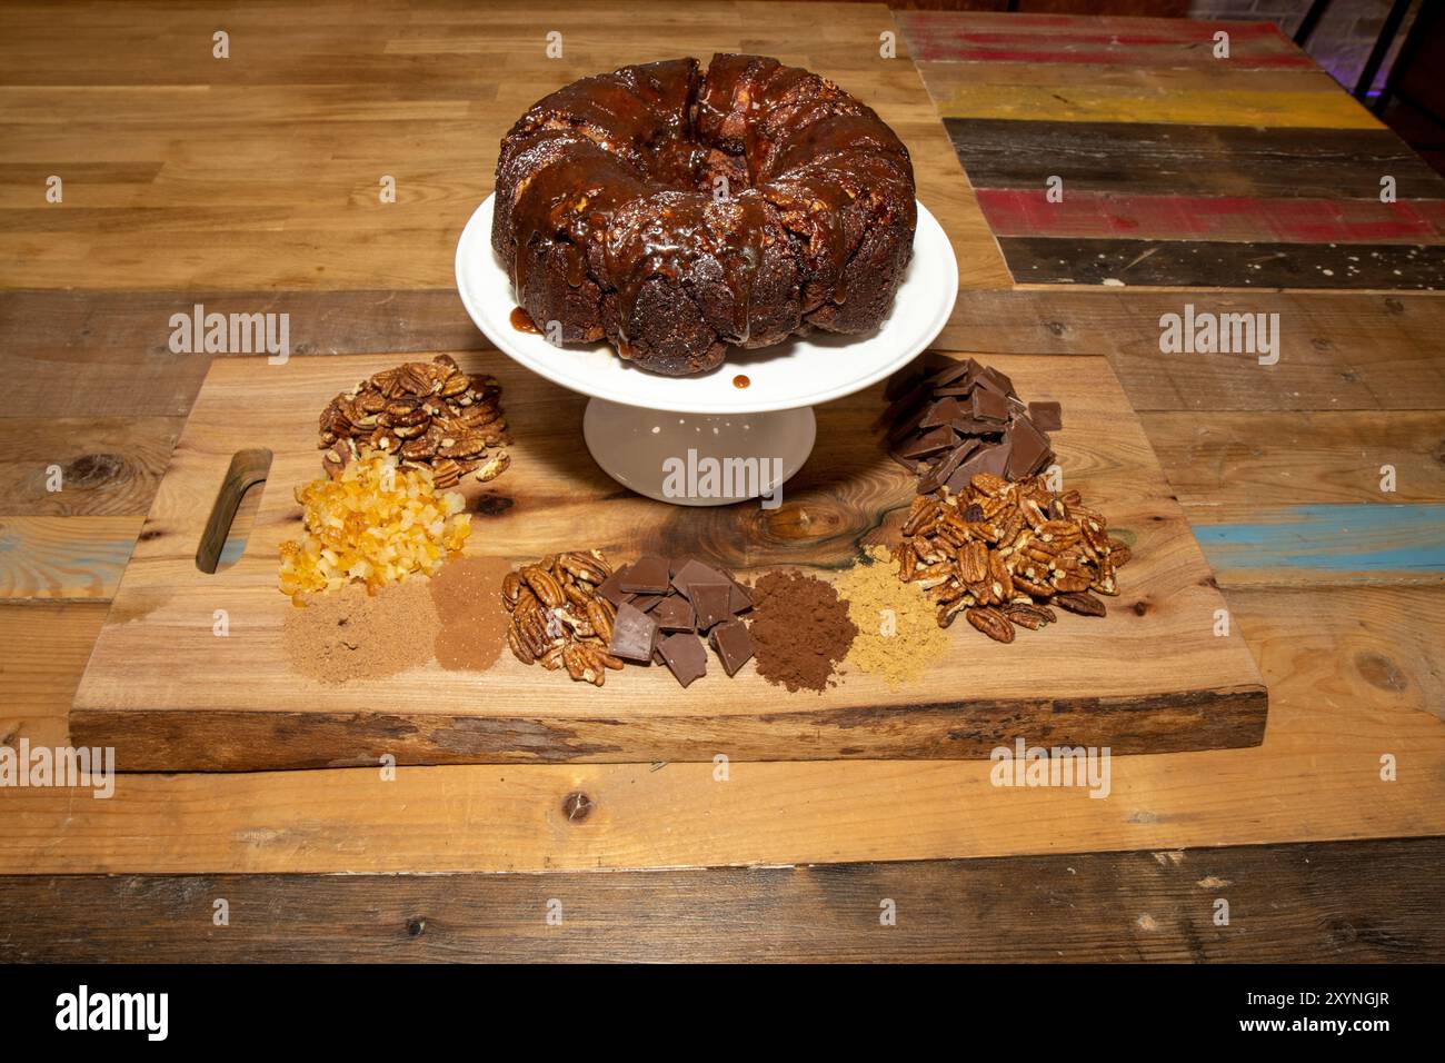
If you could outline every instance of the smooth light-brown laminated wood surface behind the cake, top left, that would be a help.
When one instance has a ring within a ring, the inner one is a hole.
[[[228,59],[212,58],[218,29]],[[727,51],[799,64],[873,106],[912,152],[959,283],[1009,285],[881,4],[318,0],[224,17],[205,3],[144,19],[7,6],[0,286],[448,286],[497,145],[533,101],[624,64]],[[45,198],[51,176],[62,202]]]

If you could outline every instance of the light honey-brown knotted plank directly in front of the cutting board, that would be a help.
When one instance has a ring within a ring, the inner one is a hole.
[[[1445,590],[1244,590],[1228,607],[1270,687],[1264,745],[1114,758],[1108,800],[994,787],[968,761],[733,764],[727,781],[711,764],[123,775],[105,801],[0,791],[0,874],[592,871],[1445,833]],[[585,819],[569,814],[578,793]]]

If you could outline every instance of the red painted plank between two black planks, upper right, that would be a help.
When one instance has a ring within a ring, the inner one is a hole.
[[[1234,243],[1445,243],[1445,201],[1120,195],[1045,189],[975,189],[994,236],[1227,240]]]

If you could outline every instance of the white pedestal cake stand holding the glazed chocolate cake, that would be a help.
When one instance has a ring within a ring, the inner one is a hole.
[[[709,373],[659,376],[617,357],[610,344],[555,347],[513,327],[512,279],[491,250],[494,198],[477,208],[457,243],[457,289],[467,312],[504,354],[590,395],[582,438],[597,464],[662,502],[776,500],[812,451],[812,406],[861,390],[918,357],[944,328],[958,295],[954,249],[919,204],[913,260],[876,333],[814,333],[760,350],[733,347]]]

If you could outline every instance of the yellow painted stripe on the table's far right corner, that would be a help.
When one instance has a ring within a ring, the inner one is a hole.
[[[1142,95],[1137,88],[1084,85],[964,85],[941,93],[948,119],[1025,121],[1165,121],[1191,126],[1277,126],[1293,129],[1381,129],[1344,91],[1176,91]]]

